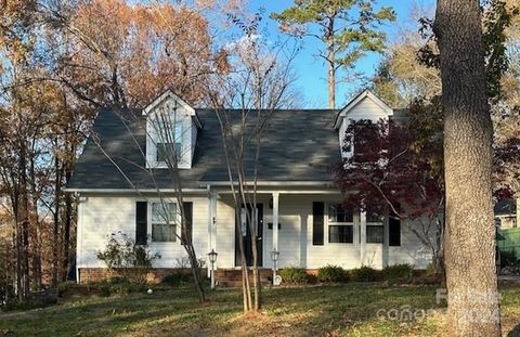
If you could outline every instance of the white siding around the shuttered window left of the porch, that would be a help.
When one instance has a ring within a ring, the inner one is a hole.
[[[120,231],[129,238],[135,238],[135,203],[138,200],[145,199],[134,196],[83,196],[79,207],[78,268],[106,267],[98,260],[96,254],[104,249],[107,236],[112,233]],[[199,257],[205,258],[208,247],[208,198],[184,197],[184,202],[193,203],[193,242]],[[148,237],[148,243],[150,241]],[[177,268],[179,260],[186,257],[184,247],[179,241],[150,243],[150,248],[152,252],[160,254],[160,259],[154,262],[155,268]]]

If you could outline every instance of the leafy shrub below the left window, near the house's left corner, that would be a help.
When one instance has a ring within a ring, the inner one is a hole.
[[[152,263],[159,258],[159,254],[152,255],[147,246],[136,245],[121,232],[112,233],[105,249],[98,251],[98,259],[105,262],[106,267],[118,270],[138,284],[146,283]]]

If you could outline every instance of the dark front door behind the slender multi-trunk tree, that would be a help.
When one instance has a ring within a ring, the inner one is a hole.
[[[251,207],[243,207],[240,209],[240,223],[238,223],[238,217],[236,217],[235,221],[235,265],[239,267],[242,264],[240,259],[240,246],[239,246],[239,231],[238,225],[242,228],[242,235],[244,239],[244,248],[246,254],[246,263],[247,265],[252,265],[252,235],[250,231],[250,225],[248,219],[252,219],[252,209]],[[249,216],[248,216],[249,215]],[[262,204],[257,204],[257,252],[258,252],[258,267],[262,267],[263,261],[263,242],[262,242],[262,234],[263,234],[263,206]]]

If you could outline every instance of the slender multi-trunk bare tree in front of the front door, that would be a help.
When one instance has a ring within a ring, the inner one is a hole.
[[[245,312],[260,310],[262,302],[257,246],[257,187],[262,141],[276,109],[295,105],[290,64],[299,49],[298,44],[289,46],[287,41],[269,44],[261,40],[257,35],[259,20],[258,15],[249,23],[233,20],[244,36],[227,48],[230,72],[216,75],[208,89],[208,104],[220,124],[236,221],[246,220],[251,233],[253,298],[244,233],[237,225]],[[250,210],[245,212],[247,219],[243,219],[243,207]]]

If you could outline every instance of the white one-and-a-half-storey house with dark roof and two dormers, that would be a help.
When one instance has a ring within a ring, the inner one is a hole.
[[[159,111],[176,115],[171,120],[176,121],[177,134],[182,134],[168,144],[158,141],[160,132],[151,128]],[[350,119],[378,120],[396,115],[399,112],[369,91],[339,111],[274,113],[259,167],[258,243],[262,268],[273,268],[273,249],[280,251],[278,268],[312,270],[337,264],[344,269],[381,269],[395,263],[427,268],[431,254],[399,220],[369,210],[344,209],[329,171],[330,165],[340,159],[342,132]],[[183,207],[192,223],[197,255],[204,258],[214,249],[217,269],[239,265],[237,223],[216,113],[193,108],[167,91],[143,111],[104,109],[96,117],[94,135],[88,140],[67,186],[68,192],[79,196],[79,282],[103,275],[105,265],[96,252],[104,248],[106,236],[117,231],[160,252],[161,258],[154,262],[158,274],[179,267],[185,252],[172,232],[179,234],[180,229],[174,221],[166,226],[158,207],[158,191],[162,200],[169,200],[170,210],[179,207],[176,184],[165,169],[160,151],[170,145],[182,154],[179,167]],[[244,235],[250,252],[250,234],[246,231]],[[251,263],[250,254],[246,258]]]

